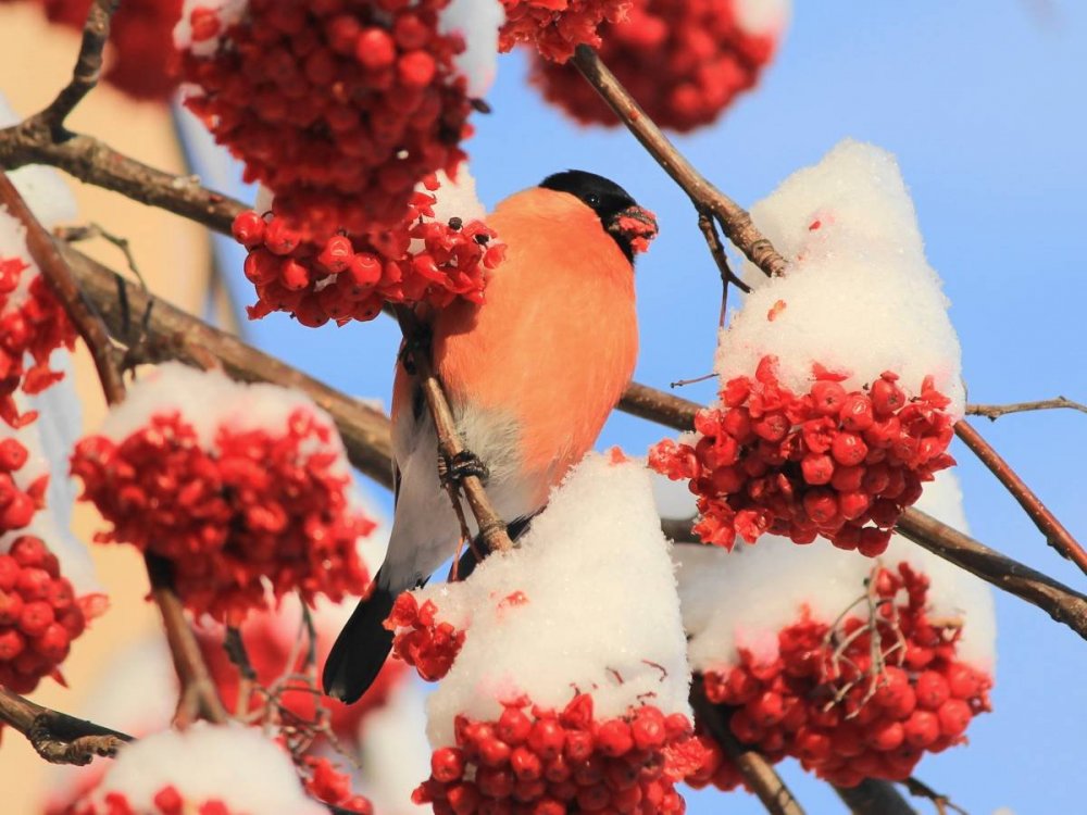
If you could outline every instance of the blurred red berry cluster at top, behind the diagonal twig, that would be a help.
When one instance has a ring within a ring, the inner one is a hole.
[[[782,0],[634,0],[625,18],[601,26],[598,50],[657,124],[685,133],[714,122],[755,84],[787,17]],[[619,124],[571,66],[538,57],[530,76],[576,121]]]

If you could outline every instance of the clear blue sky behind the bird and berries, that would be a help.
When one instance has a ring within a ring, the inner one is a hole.
[[[478,117],[470,142],[485,203],[565,167],[620,181],[661,224],[638,268],[637,377],[667,387],[708,372],[719,287],[684,195],[625,131],[571,125],[526,87],[524,73],[520,55],[503,58],[488,96],[495,112]],[[891,150],[953,303],[971,401],[1087,401],[1085,90],[1087,7],[1071,0],[821,0],[795,10],[761,87],[721,124],[677,143],[744,204],[847,136]],[[397,342],[389,321],[311,331],[273,315],[249,336],[350,393],[387,398]],[[711,391],[683,394],[705,401]],[[1087,416],[1049,412],[978,427],[1073,534],[1087,537],[1078,461]],[[616,415],[600,446],[641,452],[663,435]],[[988,472],[955,453],[974,535],[1084,588]],[[970,747],[927,757],[917,775],[973,815],[1082,811],[1087,644],[1014,598],[998,595],[997,611],[996,712],[975,720]],[[809,813],[844,811],[824,785],[796,767],[785,773]],[[728,812],[762,812],[744,793],[690,799],[696,814],[726,803]]]

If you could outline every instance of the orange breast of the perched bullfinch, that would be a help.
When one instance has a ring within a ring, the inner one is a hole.
[[[634,373],[634,272],[569,193],[518,192],[488,223],[505,261],[486,303],[436,318],[435,363],[454,406],[515,415],[524,466],[553,484],[594,444]]]

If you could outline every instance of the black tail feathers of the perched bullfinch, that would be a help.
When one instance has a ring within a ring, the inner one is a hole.
[[[392,650],[392,631],[384,623],[397,593],[374,580],[373,592],[355,606],[328,653],[322,675],[325,693],[351,704],[374,684]]]

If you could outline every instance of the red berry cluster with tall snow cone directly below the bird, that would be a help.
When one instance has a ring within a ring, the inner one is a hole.
[[[683,811],[675,783],[704,750],[666,551],[645,468],[590,454],[516,550],[398,599],[397,653],[440,679],[417,803],[439,815]],[[616,562],[622,585],[608,579]]]

